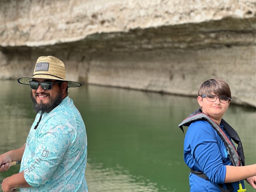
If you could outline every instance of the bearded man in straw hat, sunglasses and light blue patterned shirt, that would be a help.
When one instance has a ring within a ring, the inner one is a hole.
[[[3,192],[88,191],[85,124],[68,97],[68,87],[81,84],[65,80],[65,75],[62,61],[41,56],[33,76],[18,79],[30,84],[37,116],[24,146],[0,155],[0,172],[8,170],[10,162],[21,161],[20,173],[3,180]]]

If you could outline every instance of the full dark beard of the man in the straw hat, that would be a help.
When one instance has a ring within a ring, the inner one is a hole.
[[[57,107],[61,102],[62,102],[62,93],[61,90],[58,91],[57,95],[55,98],[50,97],[50,95],[48,95],[49,97],[49,103],[42,103],[42,101],[40,101],[40,103],[38,104],[36,99],[33,96],[32,91],[30,92],[30,97],[32,99],[32,103],[33,103],[33,108],[34,110],[39,113],[49,113],[50,111],[52,111],[52,109],[54,109],[55,107]]]

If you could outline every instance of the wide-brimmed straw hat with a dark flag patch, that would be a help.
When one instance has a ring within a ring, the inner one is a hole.
[[[58,81],[66,81],[68,87],[79,87],[80,83],[66,80],[66,70],[64,63],[53,56],[41,56],[37,59],[35,70],[32,77],[22,77],[18,79],[18,83],[29,84],[33,78],[54,79]]]

